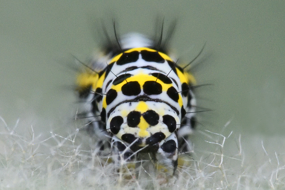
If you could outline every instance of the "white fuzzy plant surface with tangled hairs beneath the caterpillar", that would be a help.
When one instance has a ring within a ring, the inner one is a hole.
[[[184,164],[172,176],[156,171],[151,161],[148,169],[142,164],[134,172],[122,163],[116,171],[76,124],[66,136],[50,132],[43,138],[41,131],[18,122],[8,126],[1,117],[0,189],[285,188],[284,138],[197,130],[193,152],[180,155]],[[17,132],[21,128],[27,134]]]

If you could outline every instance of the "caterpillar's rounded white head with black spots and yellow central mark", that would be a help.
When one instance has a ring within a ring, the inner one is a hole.
[[[166,103],[126,102],[110,114],[106,128],[119,139],[138,146],[156,144],[180,127],[180,118]]]

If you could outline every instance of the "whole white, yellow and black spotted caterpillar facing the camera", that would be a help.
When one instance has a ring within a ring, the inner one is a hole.
[[[84,64],[87,70],[77,77],[89,128],[100,150],[110,147],[116,165],[151,153],[174,173],[179,152],[190,151],[196,123],[196,81],[185,69],[201,52],[182,68],[168,56],[163,27],[158,39],[136,33],[118,38],[115,23],[114,31],[115,40],[105,31],[105,54]]]

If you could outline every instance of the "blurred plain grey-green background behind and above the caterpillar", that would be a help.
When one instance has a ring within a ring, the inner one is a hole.
[[[178,19],[171,49],[182,62],[201,50],[193,73],[201,107],[199,130],[284,135],[284,1],[1,1],[0,116],[8,125],[65,130],[77,110],[71,54],[88,60],[101,27],[116,19],[118,33],[153,34]],[[112,34],[113,30],[108,31]]]

